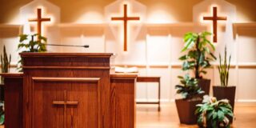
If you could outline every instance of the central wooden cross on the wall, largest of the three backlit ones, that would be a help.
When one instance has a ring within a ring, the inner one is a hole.
[[[127,51],[127,22],[131,20],[139,20],[139,17],[128,17],[127,16],[127,5],[123,5],[123,17],[111,18],[112,21],[123,21],[123,30],[124,30],[124,51]]]

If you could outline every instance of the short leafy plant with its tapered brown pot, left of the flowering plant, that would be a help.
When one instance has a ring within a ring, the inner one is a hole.
[[[190,78],[189,74],[184,77],[178,76],[178,78],[181,79],[180,82],[182,84],[175,86],[176,93],[182,95],[182,99],[175,99],[179,120],[185,124],[196,124],[197,117],[194,111],[196,110],[196,105],[202,102],[200,94],[204,92],[198,86],[198,80]]]

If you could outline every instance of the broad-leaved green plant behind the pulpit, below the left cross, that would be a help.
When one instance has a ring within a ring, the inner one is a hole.
[[[18,50],[22,52],[45,52],[47,38],[39,34],[21,34],[19,35]],[[37,38],[37,39],[36,39]],[[22,72],[22,58],[18,61],[18,71]]]

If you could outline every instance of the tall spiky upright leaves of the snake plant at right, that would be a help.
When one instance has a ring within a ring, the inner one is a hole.
[[[226,62],[226,46],[225,46],[225,54],[224,54],[224,63],[222,64],[222,56],[219,54],[219,66],[218,66],[218,73],[219,78],[221,80],[221,86],[228,86],[229,82],[229,74],[230,74],[230,60],[231,54],[229,58],[229,63]]]

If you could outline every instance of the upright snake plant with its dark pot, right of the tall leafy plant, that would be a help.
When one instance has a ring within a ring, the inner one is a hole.
[[[234,110],[234,97],[235,97],[235,86],[228,86],[229,82],[229,75],[230,75],[230,59],[231,54],[229,57],[229,61],[227,63],[226,59],[226,46],[225,46],[225,53],[224,53],[224,62],[222,63],[222,56],[219,54],[219,66],[218,66],[218,73],[219,78],[221,81],[221,86],[214,86],[214,97],[217,99],[226,98],[230,101],[230,105]]]

